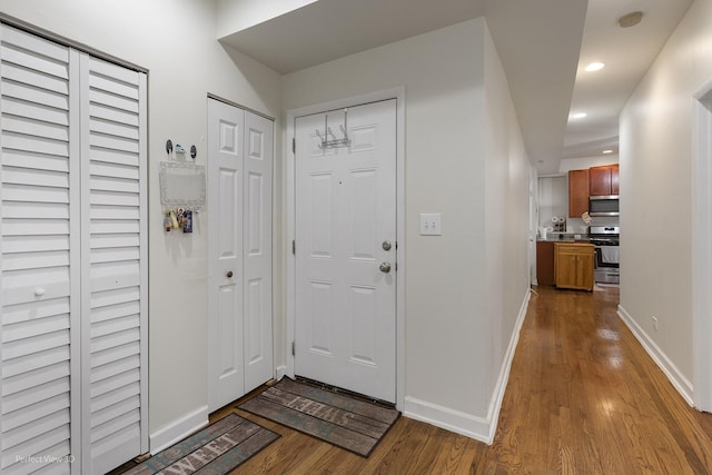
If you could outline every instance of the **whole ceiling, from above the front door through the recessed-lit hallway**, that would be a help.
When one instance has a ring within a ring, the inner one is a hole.
[[[527,154],[540,175],[546,175],[558,172],[561,159],[595,157],[604,149],[617,154],[621,109],[691,3],[318,0],[220,40],[289,73],[484,16],[507,75]],[[617,19],[633,11],[642,11],[643,20],[622,29]],[[583,71],[591,61],[606,67]],[[570,111],[587,116],[570,120]]]

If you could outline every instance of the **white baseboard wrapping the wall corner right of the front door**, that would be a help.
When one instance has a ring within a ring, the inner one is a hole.
[[[514,359],[516,345],[520,340],[520,331],[522,329],[522,325],[524,325],[524,318],[526,317],[531,295],[531,291],[527,289],[522,301],[522,306],[520,307],[520,315],[517,316],[516,324],[514,325],[514,330],[510,338],[510,346],[505,354],[504,363],[500,369],[500,377],[493,393],[492,403],[487,410],[487,417],[478,417],[411,396],[405,397],[403,415],[412,419],[421,420],[436,427],[484,442],[485,444],[492,444],[492,441],[494,441],[494,434],[497,429],[500,409],[502,408],[504,392],[507,387],[507,382],[510,380],[512,360]]]

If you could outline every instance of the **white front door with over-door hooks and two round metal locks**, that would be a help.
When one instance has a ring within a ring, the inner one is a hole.
[[[395,403],[396,100],[295,135],[295,374]]]

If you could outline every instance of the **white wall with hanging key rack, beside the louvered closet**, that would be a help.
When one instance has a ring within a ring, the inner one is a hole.
[[[0,11],[148,69],[149,427],[207,422],[207,216],[192,235],[162,231],[158,164],[166,139],[195,144],[206,164],[208,92],[279,117],[279,76],[216,41],[211,0],[0,0]]]

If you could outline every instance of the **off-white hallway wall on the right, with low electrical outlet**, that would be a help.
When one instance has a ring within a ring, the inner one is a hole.
[[[693,370],[693,95],[711,79],[712,1],[696,0],[621,115],[621,314],[683,392]]]

